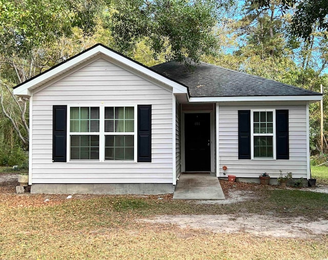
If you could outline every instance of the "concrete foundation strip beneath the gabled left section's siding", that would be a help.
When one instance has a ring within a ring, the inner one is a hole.
[[[32,184],[31,193],[157,195],[173,193],[174,188],[174,185],[167,183]]]

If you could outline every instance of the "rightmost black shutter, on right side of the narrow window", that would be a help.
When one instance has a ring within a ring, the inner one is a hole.
[[[289,160],[288,110],[276,110],[277,159]]]

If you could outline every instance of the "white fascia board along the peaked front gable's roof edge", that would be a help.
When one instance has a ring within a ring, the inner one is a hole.
[[[148,77],[154,78],[166,85],[171,86],[171,88],[173,89],[173,93],[187,93],[187,88],[173,80],[170,80],[166,77],[163,77],[159,74],[157,74],[156,72],[153,72],[152,70],[141,66],[140,64],[124,57],[121,56],[118,53],[115,53],[111,50],[108,50],[106,48],[104,48],[103,46],[97,46],[95,48],[92,48],[90,50],[88,50],[85,53],[82,53],[78,56],[76,56],[75,58],[64,62],[63,64],[61,64],[60,66],[48,71],[47,73],[40,75],[22,85],[20,85],[18,88],[14,89],[14,95],[21,95],[21,96],[31,96],[31,90],[37,88],[37,86],[40,86],[42,84],[44,84],[45,82],[55,78],[56,76],[63,74],[64,72],[76,67],[78,64],[83,63],[84,61],[103,53],[104,55],[117,60],[118,62],[121,62],[123,64],[125,64],[128,67],[131,67],[134,70],[137,70],[145,75],[147,75]]]

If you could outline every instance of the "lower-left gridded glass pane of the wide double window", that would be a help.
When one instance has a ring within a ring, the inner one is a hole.
[[[99,160],[99,136],[71,136],[71,160]]]

